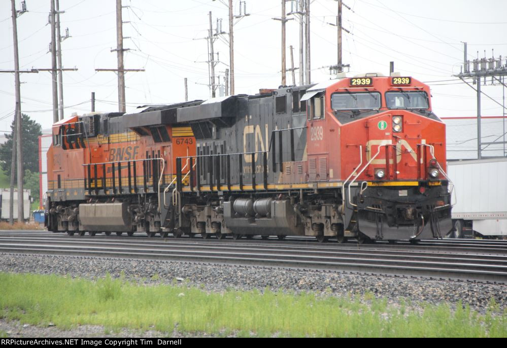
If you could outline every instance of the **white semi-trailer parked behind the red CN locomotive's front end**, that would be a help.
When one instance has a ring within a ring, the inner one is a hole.
[[[507,237],[507,158],[448,162],[453,236]]]

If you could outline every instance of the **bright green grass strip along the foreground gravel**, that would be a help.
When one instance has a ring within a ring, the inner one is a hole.
[[[386,299],[146,286],[55,275],[0,273],[0,317],[60,328],[103,325],[172,333],[265,337],[506,337],[507,313],[494,302],[481,315],[468,307],[424,305],[423,311]]]

